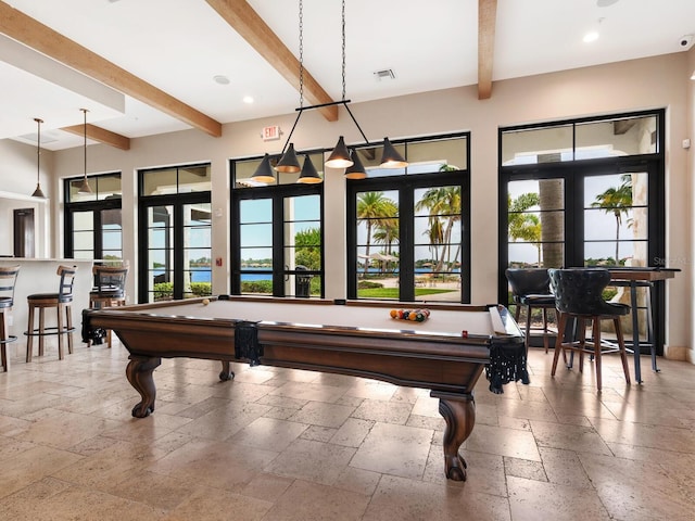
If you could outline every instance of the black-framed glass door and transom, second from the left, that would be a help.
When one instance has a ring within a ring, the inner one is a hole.
[[[140,302],[212,294],[210,165],[139,173]]]

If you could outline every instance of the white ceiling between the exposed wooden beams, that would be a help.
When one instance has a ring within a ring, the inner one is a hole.
[[[299,92],[204,0],[4,3],[219,123],[299,105]],[[298,1],[248,3],[299,55]],[[478,0],[346,0],[345,18],[345,98],[353,102],[478,82]],[[303,27],[304,66],[340,100],[341,1],[304,0]],[[583,43],[592,28],[599,38]],[[493,81],[682,52],[692,46],[681,45],[686,35],[695,35],[694,0],[498,0]],[[191,128],[17,46],[0,35],[0,139],[35,144],[40,117],[43,148],[81,145],[59,129],[81,125],[83,107],[88,123],[128,138]],[[382,69],[395,79],[378,80]],[[217,75],[229,84],[215,82]]]

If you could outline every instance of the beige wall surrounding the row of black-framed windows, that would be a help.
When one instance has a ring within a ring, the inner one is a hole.
[[[476,87],[414,94],[368,103],[351,109],[371,140],[384,136],[403,138],[471,131],[471,297],[472,302],[494,302],[497,281],[497,129],[500,126],[544,122],[586,115],[603,115],[645,109],[667,109],[667,256],[670,267],[681,268],[667,285],[667,353],[694,360],[694,312],[691,259],[694,257],[692,226],[693,162],[682,140],[695,136],[693,117],[693,51],[618,64],[586,67],[542,76],[493,84],[492,98],[479,101]],[[317,112],[302,116],[293,142],[298,149],[330,148],[339,135],[348,143],[362,137],[344,111],[340,120],[327,123]],[[213,209],[222,217],[213,221],[213,258],[223,257],[224,266],[213,266],[213,292],[228,291],[229,175],[227,160],[279,152],[283,140],[264,143],[261,129],[279,125],[288,132],[295,113],[261,120],[224,126],[222,138],[210,138],[197,130],[131,140],[130,151],[106,145],[89,148],[89,173],[121,170],[124,180],[124,229],[136,231],[136,170],[138,168],[211,162]],[[2,143],[2,142],[0,142]],[[81,149],[56,152],[52,193],[60,178],[79,175]],[[344,180],[340,173],[327,173],[326,181],[326,266],[327,297],[344,296]],[[33,189],[33,187],[31,187]],[[60,205],[53,205],[53,225],[62,237]],[[137,237],[125,236],[124,255],[137,262]],[[62,255],[62,244],[54,256]],[[135,277],[130,280],[134,294]]]

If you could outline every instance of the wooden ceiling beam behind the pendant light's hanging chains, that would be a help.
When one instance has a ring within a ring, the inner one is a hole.
[[[298,91],[300,90],[300,61],[280,41],[245,0],[206,0],[255,51],[261,54]],[[333,103],[326,90],[304,69],[304,97],[311,105]],[[338,105],[317,109],[329,122],[338,120]]]

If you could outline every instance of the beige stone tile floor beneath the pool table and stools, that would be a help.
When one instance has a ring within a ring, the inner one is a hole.
[[[125,378],[127,352],[77,344],[0,373],[2,520],[691,520],[695,366],[643,357],[627,385],[616,356],[604,390],[549,377],[481,380],[462,447],[465,483],[443,475],[444,420],[426,390],[344,376],[163,360],[155,412]],[[632,369],[632,368],[631,368]]]

